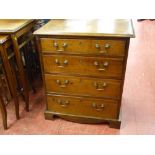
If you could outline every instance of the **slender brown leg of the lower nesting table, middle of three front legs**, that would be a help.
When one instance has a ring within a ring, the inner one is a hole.
[[[12,76],[11,66],[8,60],[7,50],[5,48],[2,48],[1,56],[3,59],[3,65],[6,72],[6,77],[9,83],[10,91],[14,99],[16,118],[19,119],[19,100],[18,100],[17,89],[14,84],[15,83],[14,81],[16,79],[14,79],[14,77]]]

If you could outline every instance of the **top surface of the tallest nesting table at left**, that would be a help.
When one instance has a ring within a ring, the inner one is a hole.
[[[32,21],[32,19],[0,19],[0,33],[14,33]]]

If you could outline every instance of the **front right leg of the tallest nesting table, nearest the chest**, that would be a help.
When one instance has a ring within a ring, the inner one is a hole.
[[[25,103],[26,103],[26,111],[29,111],[29,87],[28,87],[28,80],[24,71],[23,62],[18,46],[17,37],[15,35],[11,35],[13,46],[14,46],[14,52],[16,56],[17,66],[19,69],[20,79],[23,86],[23,93],[25,97]]]

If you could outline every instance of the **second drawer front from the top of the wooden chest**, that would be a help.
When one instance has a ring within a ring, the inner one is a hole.
[[[122,77],[123,60],[82,56],[44,55],[44,71],[97,77]]]

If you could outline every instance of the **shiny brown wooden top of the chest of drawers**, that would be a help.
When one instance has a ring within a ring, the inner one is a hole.
[[[54,19],[34,32],[35,35],[135,37],[132,20]]]

